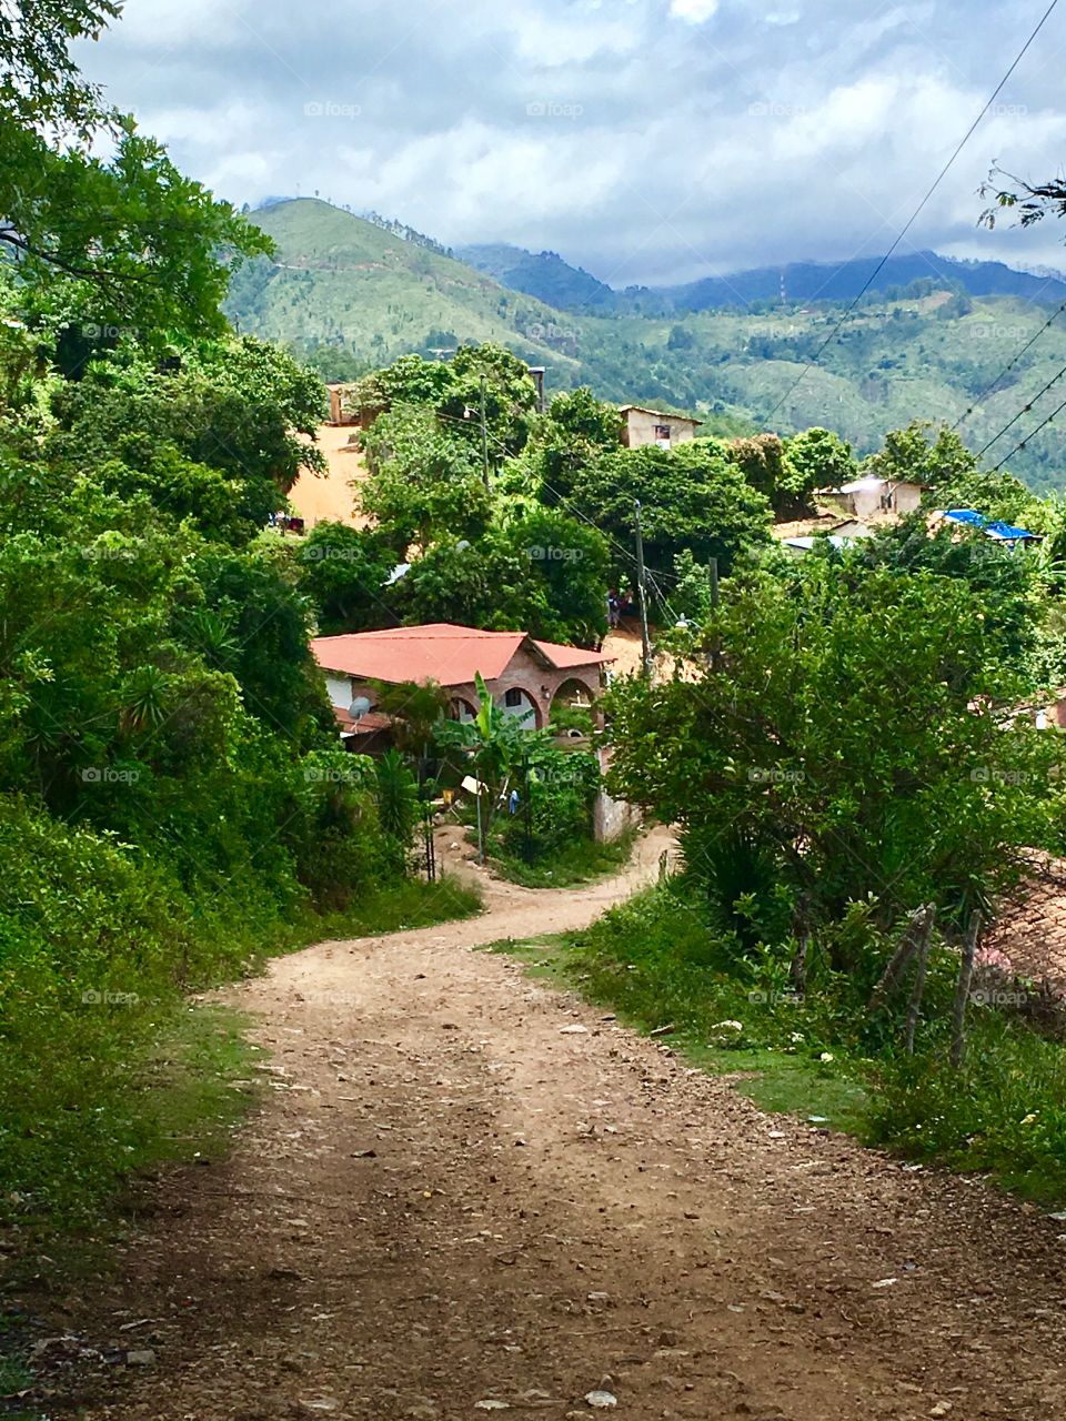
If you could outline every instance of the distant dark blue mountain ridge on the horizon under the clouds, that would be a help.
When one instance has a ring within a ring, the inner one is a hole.
[[[704,277],[685,286],[628,287],[615,291],[554,252],[534,256],[522,247],[475,246],[456,252],[463,261],[488,271],[502,286],[533,296],[561,311],[615,311],[669,315],[687,311],[745,310],[782,303],[853,301],[873,276],[876,296],[901,294],[914,283],[961,290],[969,296],[1016,296],[1042,306],[1066,300],[1066,279],[1015,271],[1002,261],[957,261],[935,252],[894,256],[877,271],[880,257],[851,261],[792,261],[753,267],[729,276]],[[877,274],[874,276],[874,273]]]

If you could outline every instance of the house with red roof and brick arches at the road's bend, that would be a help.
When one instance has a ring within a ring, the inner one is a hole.
[[[318,637],[311,649],[325,672],[345,737],[387,730],[388,719],[374,709],[374,688],[382,681],[435,681],[451,692],[456,719],[470,719],[478,709],[478,674],[506,715],[542,729],[556,701],[596,701],[613,661],[603,652],[537,641],[523,631],[480,631],[452,622]],[[352,713],[357,705],[360,710]]]

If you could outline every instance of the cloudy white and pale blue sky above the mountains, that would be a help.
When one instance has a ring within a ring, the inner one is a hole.
[[[126,0],[87,72],[236,203],[316,190],[610,281],[880,254],[1048,0]],[[1066,163],[1066,4],[910,246],[1066,267],[978,230],[991,163]],[[907,250],[907,247],[904,247]]]

